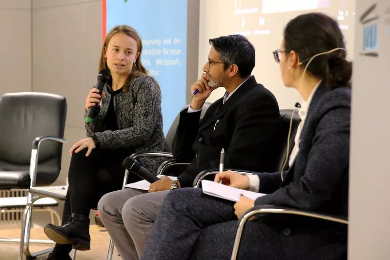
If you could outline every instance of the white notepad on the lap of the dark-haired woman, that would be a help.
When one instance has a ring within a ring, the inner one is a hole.
[[[264,193],[258,193],[258,192],[229,187],[224,184],[220,184],[218,182],[214,182],[211,180],[202,180],[202,189],[203,189],[203,193],[207,195],[222,198],[225,200],[232,200],[232,201],[239,201],[241,194],[252,200],[256,200],[259,197],[267,195]]]

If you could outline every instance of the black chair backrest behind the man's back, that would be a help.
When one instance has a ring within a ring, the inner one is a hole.
[[[294,115],[292,118],[292,125],[291,125],[291,134],[290,134],[290,140],[289,140],[289,149],[288,149],[288,157],[287,157],[287,163],[283,170],[288,169],[288,158],[292,152],[292,149],[294,148],[294,139],[295,134],[297,133],[298,125],[301,119],[298,115],[297,109],[281,109],[280,110],[280,116],[282,117],[282,125],[281,125],[281,131],[280,131],[280,138],[282,140],[281,146],[280,146],[280,152],[277,153],[279,155],[278,161],[277,161],[277,168],[276,171],[280,171],[282,169],[282,166],[286,160],[287,156],[287,136],[288,131],[290,129],[290,120],[292,116],[292,111],[294,111]]]

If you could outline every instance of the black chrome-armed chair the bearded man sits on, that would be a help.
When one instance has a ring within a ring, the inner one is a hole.
[[[282,125],[280,128],[279,136],[282,142],[278,144],[280,145],[280,148],[278,149],[278,153],[277,153],[279,157],[278,160],[276,161],[274,172],[286,171],[288,169],[288,158],[291,155],[292,149],[294,148],[294,138],[297,133],[299,122],[301,121],[298,115],[298,110],[296,109],[281,109],[280,116],[282,117]],[[291,133],[288,139],[290,124],[291,124]],[[231,169],[231,170],[243,175],[254,174],[254,172],[252,171],[245,171],[239,169]],[[219,173],[219,170],[209,169],[209,170],[202,171],[196,176],[194,182],[192,183],[192,186],[194,186],[194,188],[199,188],[199,186],[201,185],[201,181],[206,176],[214,175],[217,173]]]

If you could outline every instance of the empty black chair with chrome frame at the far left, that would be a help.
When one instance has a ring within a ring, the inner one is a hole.
[[[37,185],[53,183],[60,174],[62,143],[66,142],[62,139],[65,119],[66,100],[61,96],[23,92],[0,97],[0,189],[28,189],[25,202],[21,205],[0,205],[3,209],[18,206],[24,208],[19,260],[23,255],[27,259],[33,259],[52,250],[30,253],[30,242],[54,243],[51,240],[30,240],[31,214],[36,200],[42,197],[61,197],[49,190],[46,190],[47,196],[40,196],[35,192],[36,189],[44,188]],[[46,140],[55,142],[44,142]],[[57,205],[56,200],[50,201],[41,203],[40,206]]]

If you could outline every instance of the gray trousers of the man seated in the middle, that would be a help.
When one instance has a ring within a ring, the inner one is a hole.
[[[124,260],[138,260],[157,213],[169,191],[147,193],[124,189],[105,194],[98,203],[100,218]]]

